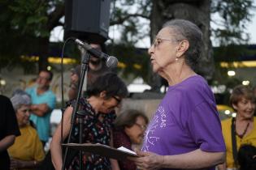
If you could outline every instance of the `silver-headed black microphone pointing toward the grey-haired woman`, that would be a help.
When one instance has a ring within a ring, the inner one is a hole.
[[[93,47],[91,47],[89,44],[73,38],[73,40],[75,40],[77,45],[80,45],[81,47],[83,47],[87,52],[89,52],[90,54],[93,55],[93,57],[98,57],[100,59],[104,59],[106,60],[106,66],[110,67],[110,68],[115,68],[118,64],[118,59],[116,57],[113,56],[109,56],[106,53],[102,53],[101,51],[98,51],[97,49],[93,49]]]

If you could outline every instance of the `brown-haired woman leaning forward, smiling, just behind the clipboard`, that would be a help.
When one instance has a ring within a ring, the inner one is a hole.
[[[120,113],[115,120],[113,131],[114,147],[126,147],[132,150],[132,144],[140,145],[148,121],[148,117],[138,110],[128,109]],[[119,161],[119,168],[122,170],[137,169],[136,164],[129,160]]]

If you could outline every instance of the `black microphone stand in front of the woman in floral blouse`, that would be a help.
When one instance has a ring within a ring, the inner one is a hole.
[[[82,143],[83,117],[85,117],[85,111],[84,110],[77,111],[77,110],[78,110],[78,107],[79,107],[79,100],[80,100],[80,96],[81,96],[81,92],[82,92],[83,83],[84,83],[84,80],[85,80],[85,74],[88,71],[89,58],[90,58],[90,54],[87,53],[87,52],[82,57],[79,89],[78,89],[78,93],[77,93],[77,96],[76,96],[75,107],[74,107],[73,112],[72,112],[71,127],[70,127],[70,131],[69,131],[69,134],[68,134],[67,143],[71,142],[72,131],[74,129],[74,124],[76,123],[76,118],[78,118],[78,122],[79,122],[79,143]],[[87,83],[87,82],[85,82],[85,83]],[[63,156],[62,170],[65,169],[65,166],[67,164],[67,155],[69,154],[69,152],[70,152],[69,148],[66,147],[65,154]],[[80,168],[80,170],[83,169],[82,160],[83,160],[83,152],[79,151],[79,168]]]

